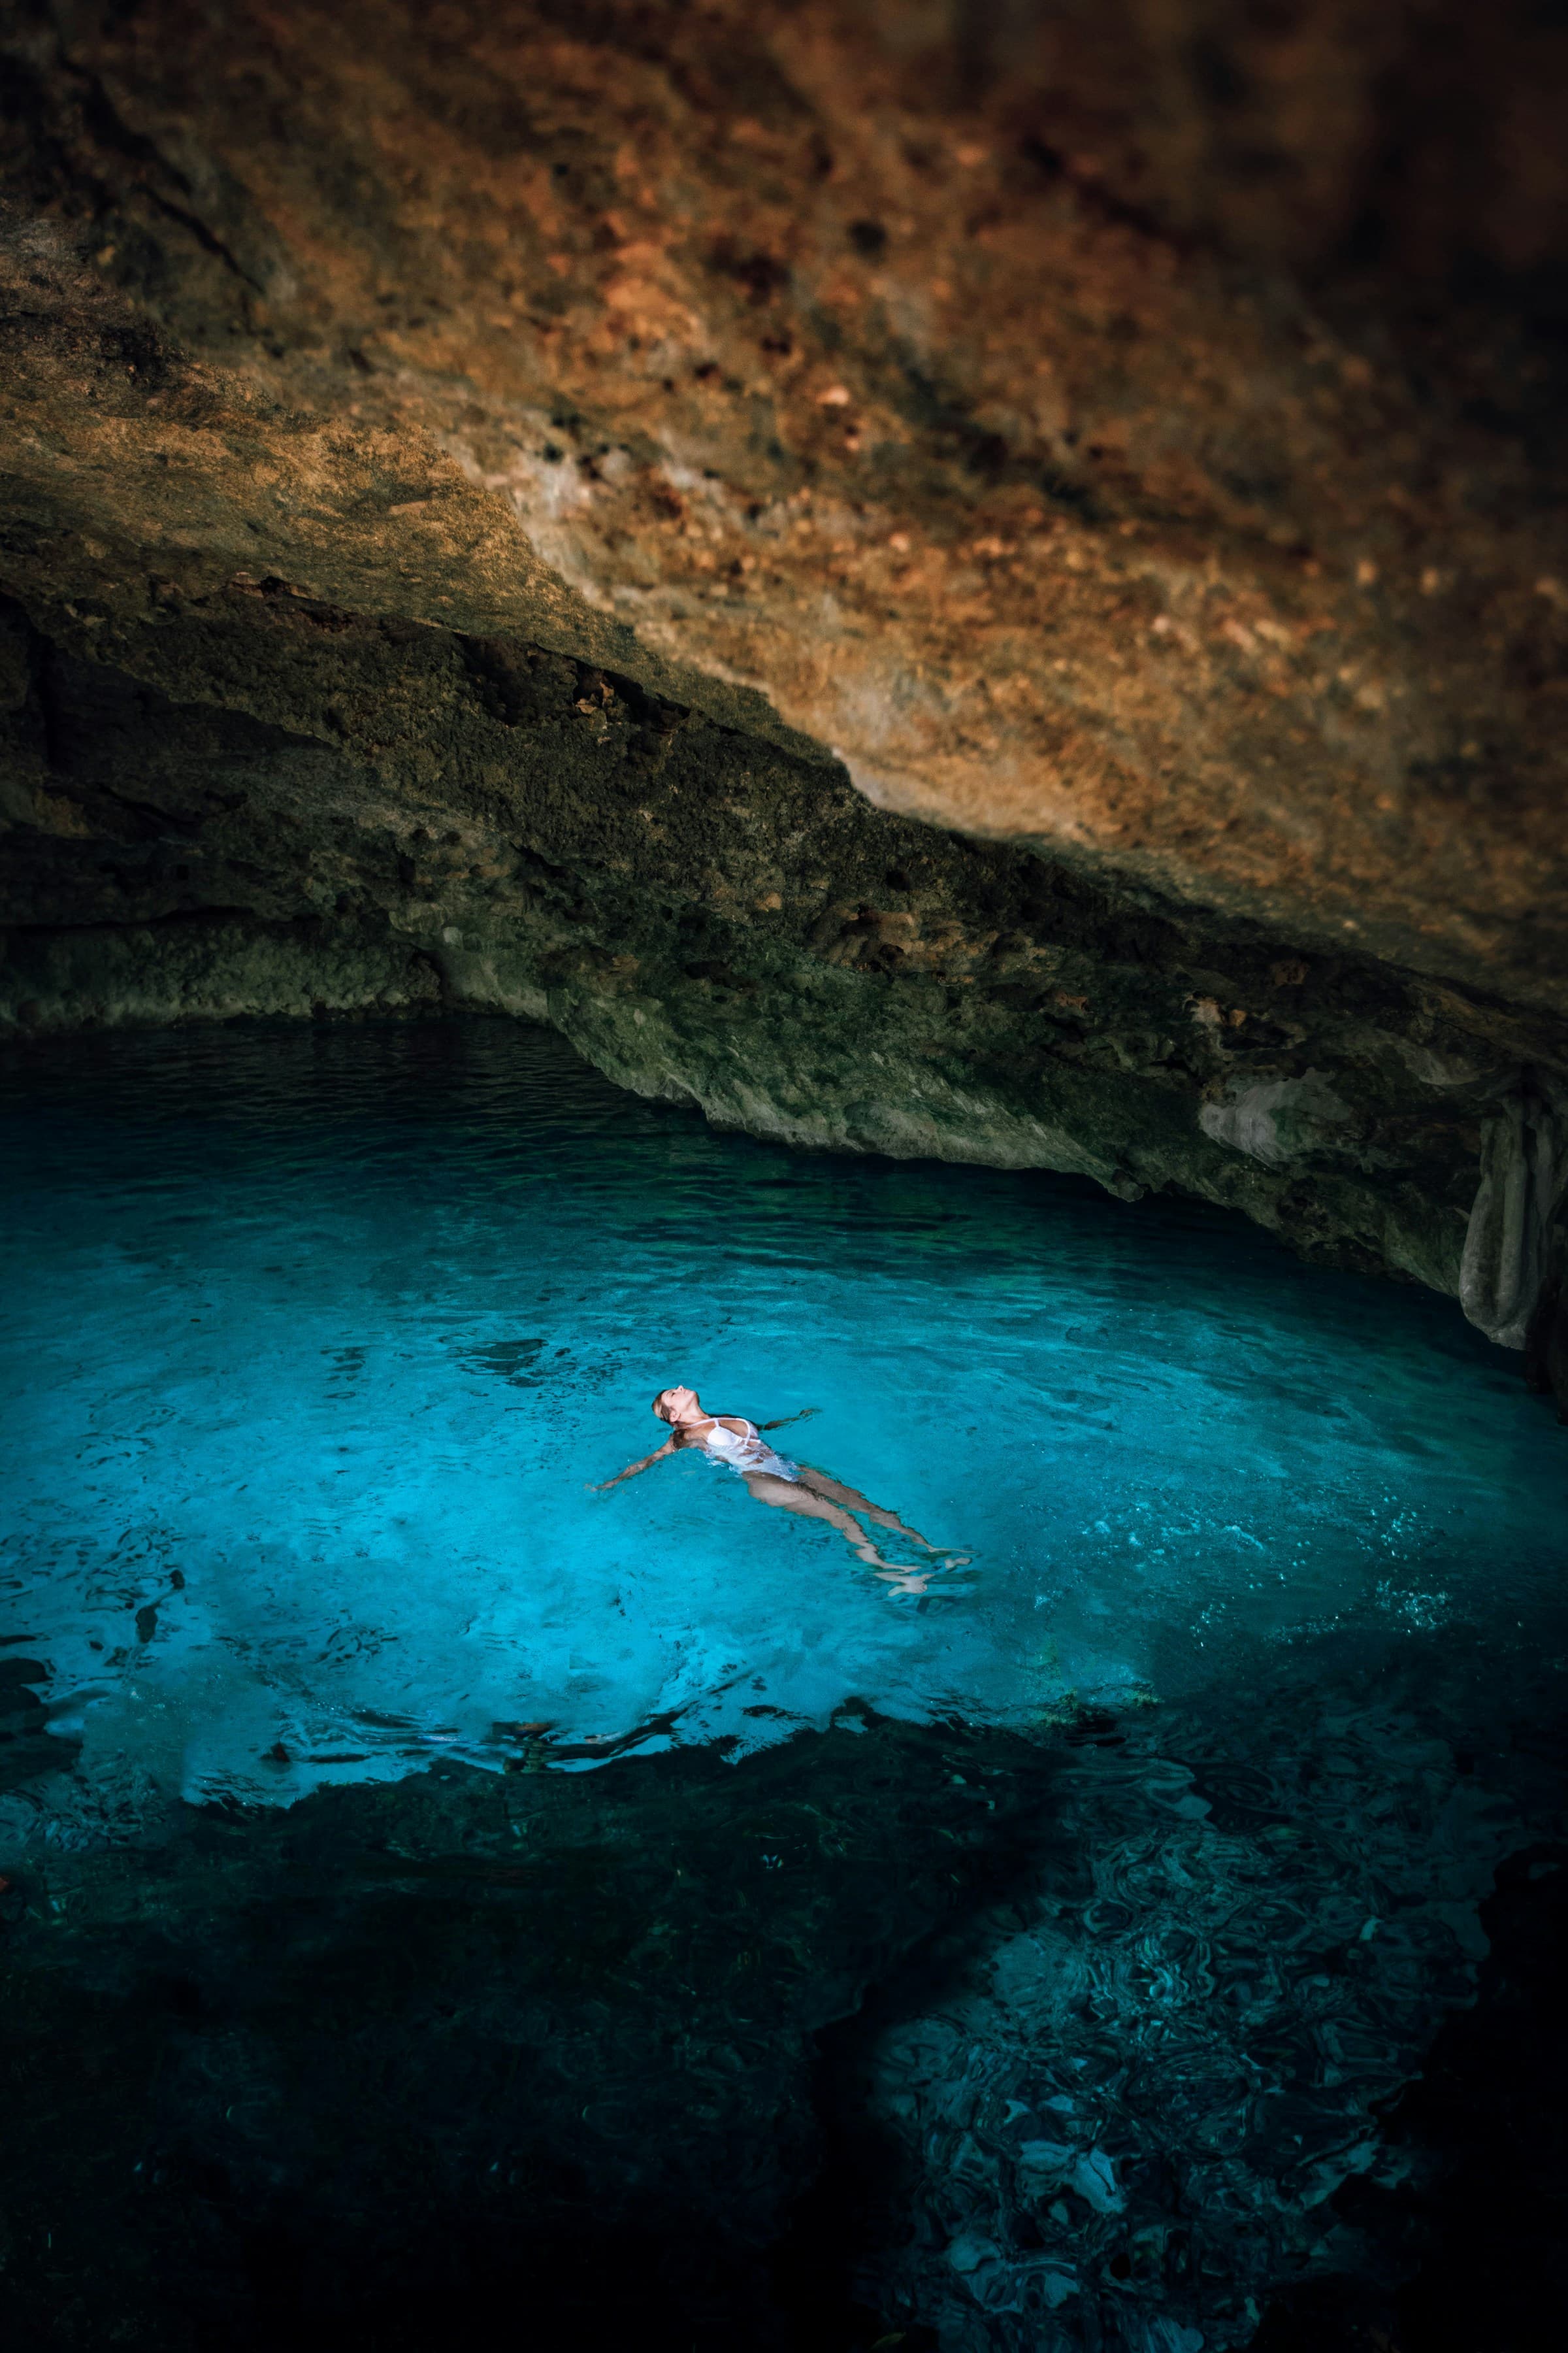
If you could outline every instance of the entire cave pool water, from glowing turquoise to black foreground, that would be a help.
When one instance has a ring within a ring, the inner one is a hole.
[[[1493,2031],[1497,1868],[1519,1951],[1556,1901],[1568,1666],[1568,1440],[1455,1306],[510,1024],[0,1106],[54,2341],[1443,2341],[1406,2087]],[[691,1457],[588,1494],[672,1379],[969,1562]]]

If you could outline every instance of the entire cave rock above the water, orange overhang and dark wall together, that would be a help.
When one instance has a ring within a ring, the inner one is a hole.
[[[456,993],[1462,1289],[1568,1068],[1566,80],[1523,0],[12,7],[12,1016]],[[698,1047],[811,960],[896,1101]]]

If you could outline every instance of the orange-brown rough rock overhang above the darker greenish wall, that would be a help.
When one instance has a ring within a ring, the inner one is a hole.
[[[19,176],[235,414],[12,461],[172,572],[618,624],[877,805],[1561,1005],[1542,362],[1408,299],[1559,252],[1561,38],[990,14],[59,7]]]

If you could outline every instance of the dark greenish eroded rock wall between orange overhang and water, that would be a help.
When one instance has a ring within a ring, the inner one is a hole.
[[[5,649],[19,1033],[498,1007],[722,1125],[1173,1184],[1448,1292],[1556,1049],[1537,1014],[875,812],[541,647],[273,586],[143,626],[12,607]],[[1488,1209],[1469,1264],[1514,1242]],[[1467,1306],[1519,1344],[1519,1297]]]

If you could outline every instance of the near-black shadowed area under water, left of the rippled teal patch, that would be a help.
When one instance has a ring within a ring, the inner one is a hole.
[[[437,1767],[146,1849],[40,1824],[0,1946],[16,2325],[428,2346],[517,2299],[541,2341],[870,2341],[835,2231],[785,2261],[816,2035],[1016,1868],[1048,1781],[851,1708],[738,1767]]]

